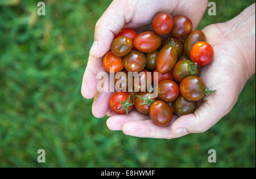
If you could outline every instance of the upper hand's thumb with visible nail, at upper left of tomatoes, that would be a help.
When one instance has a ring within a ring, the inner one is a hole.
[[[120,4],[121,1],[113,1],[95,25],[94,42],[90,49],[90,56],[94,58],[100,58],[108,52],[114,35],[125,24],[122,5],[118,3]]]

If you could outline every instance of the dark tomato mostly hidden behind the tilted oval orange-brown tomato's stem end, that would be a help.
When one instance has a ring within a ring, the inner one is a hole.
[[[166,45],[175,46],[178,57],[180,57],[183,54],[183,41],[181,40],[181,38],[168,36],[162,42],[162,46],[166,46]]]

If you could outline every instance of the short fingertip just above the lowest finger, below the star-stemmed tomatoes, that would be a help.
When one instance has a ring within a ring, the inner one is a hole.
[[[148,115],[133,111],[129,113],[129,116],[127,116],[126,114],[121,114],[108,118],[108,120],[106,121],[106,125],[110,130],[122,130],[122,127],[126,122],[143,121],[148,120],[149,118],[150,117]]]

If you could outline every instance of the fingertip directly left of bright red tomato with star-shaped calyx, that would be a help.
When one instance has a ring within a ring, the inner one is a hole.
[[[92,104],[93,116],[97,118],[104,117],[109,110],[109,98],[113,92],[99,92],[94,97]]]

